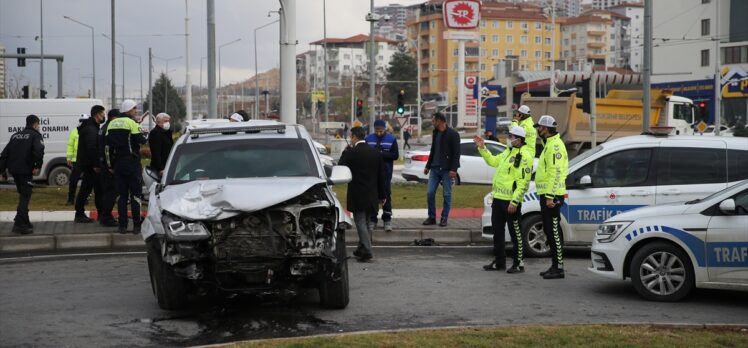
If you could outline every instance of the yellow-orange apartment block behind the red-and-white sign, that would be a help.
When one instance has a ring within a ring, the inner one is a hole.
[[[421,93],[442,93],[449,103],[457,100],[458,43],[445,40],[439,1],[424,3],[420,13],[408,21],[411,55],[420,51]],[[511,61],[517,70],[551,70],[559,59],[560,25],[551,26],[543,8],[527,3],[483,2],[479,40],[465,44],[466,75],[480,71],[482,80],[493,78],[494,65]],[[555,37],[555,51],[552,40]]]

